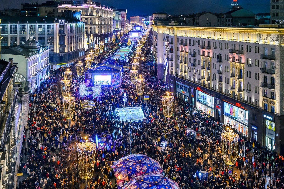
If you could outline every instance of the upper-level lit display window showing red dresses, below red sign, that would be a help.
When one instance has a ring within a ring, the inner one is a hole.
[[[239,108],[237,106],[234,106],[232,104],[229,104],[227,102],[224,102],[224,114],[226,116],[235,118],[242,123],[249,124],[249,111],[243,110],[242,108]]]

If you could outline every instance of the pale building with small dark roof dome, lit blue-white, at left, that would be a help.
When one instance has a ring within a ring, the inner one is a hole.
[[[40,47],[33,36],[24,45],[2,48],[3,59],[13,58],[18,63],[17,78],[29,82],[30,92],[40,86],[41,81],[49,76],[49,47]]]

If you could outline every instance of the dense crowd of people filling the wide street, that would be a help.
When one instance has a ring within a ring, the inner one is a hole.
[[[76,97],[71,126],[62,114],[58,87],[67,68],[51,70],[49,78],[30,94],[29,129],[24,136],[27,146],[23,147],[21,166],[26,178],[19,179],[19,189],[82,187],[83,180],[76,174],[72,145],[84,141],[85,136],[92,140],[96,133],[104,131],[110,134],[110,149],[97,150],[94,177],[88,181],[91,189],[117,189],[114,173],[106,162],[130,153],[156,159],[164,175],[175,180],[182,189],[284,187],[284,159],[267,147],[261,147],[255,140],[235,131],[239,134],[239,157],[231,167],[233,173],[230,175],[221,156],[220,135],[225,128],[222,123],[178,98],[174,102],[174,116],[170,120],[163,116],[161,96],[168,88],[164,81],[155,77],[151,36],[150,32],[141,51],[144,59],[139,64],[139,74],[146,80],[144,94],[149,95],[150,100],[140,100],[131,83],[130,71],[125,69],[121,87],[102,89],[99,96],[92,98],[96,107],[82,109],[80,102],[88,97],[80,98],[78,87],[83,78],[77,77],[74,65],[69,67],[74,73],[70,93]],[[128,61],[119,60],[117,64],[131,67],[135,45],[133,43]],[[107,55],[100,55],[99,61],[119,49],[114,48]],[[127,100],[123,101],[125,96]],[[115,108],[133,106],[141,106],[147,123],[117,119]],[[187,134],[187,128],[196,134]],[[162,142],[166,145],[161,145]],[[200,171],[208,172],[207,181],[198,177]]]

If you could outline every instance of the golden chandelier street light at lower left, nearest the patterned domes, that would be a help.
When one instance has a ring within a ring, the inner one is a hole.
[[[86,181],[86,187],[87,180],[93,177],[96,163],[96,148],[96,144],[94,142],[88,142],[88,140],[77,145],[79,175]]]

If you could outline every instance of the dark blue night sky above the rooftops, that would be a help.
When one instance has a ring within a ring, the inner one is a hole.
[[[0,9],[20,8],[21,3],[28,3],[29,0],[0,0]],[[46,0],[37,1],[39,4]],[[127,18],[141,14],[152,14],[153,12],[166,12],[168,14],[188,14],[202,11],[227,12],[230,9],[231,0],[97,0],[106,6],[127,9]],[[240,5],[249,9],[255,14],[269,12],[270,0],[239,0]]]

